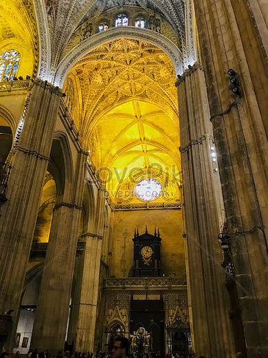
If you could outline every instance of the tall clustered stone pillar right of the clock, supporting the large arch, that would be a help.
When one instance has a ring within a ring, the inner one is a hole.
[[[212,161],[214,138],[201,66],[186,70],[176,85],[192,346],[197,355],[234,357],[223,255],[217,240],[224,220],[223,200]]]

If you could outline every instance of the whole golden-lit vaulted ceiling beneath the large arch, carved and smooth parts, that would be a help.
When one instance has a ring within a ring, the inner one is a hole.
[[[156,166],[171,178],[180,169],[175,70],[164,52],[116,39],[89,52],[69,76],[81,92],[76,125],[99,172],[109,168],[112,197],[133,171]]]

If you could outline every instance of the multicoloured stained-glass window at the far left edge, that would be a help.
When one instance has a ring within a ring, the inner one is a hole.
[[[0,81],[12,80],[18,71],[21,55],[16,50],[6,51],[0,56]]]

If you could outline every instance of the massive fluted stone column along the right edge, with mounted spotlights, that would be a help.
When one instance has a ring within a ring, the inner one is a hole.
[[[248,358],[268,355],[268,71],[252,3],[194,0]]]

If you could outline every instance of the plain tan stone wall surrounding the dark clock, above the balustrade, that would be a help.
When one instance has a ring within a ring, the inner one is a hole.
[[[127,277],[133,265],[133,236],[135,228],[139,234],[153,234],[159,228],[161,262],[165,275],[183,276],[186,273],[181,209],[155,209],[115,211],[111,243],[110,275]]]

